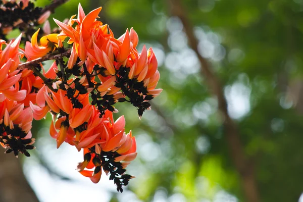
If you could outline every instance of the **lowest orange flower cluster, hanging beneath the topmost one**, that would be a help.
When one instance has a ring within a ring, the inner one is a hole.
[[[112,154],[112,160],[123,161],[124,163],[121,164],[123,168],[128,165],[128,162],[135,159],[137,155],[136,140],[131,132],[129,134],[124,132],[124,116],[114,122],[113,113],[107,110],[105,115],[100,118],[98,110],[89,104],[88,94],[78,97],[83,108],[73,108],[71,100],[65,96],[65,93],[61,89],[53,92],[43,86],[36,97],[38,106],[30,102],[30,107],[36,120],[42,119],[50,110],[60,114],[59,116],[54,115],[49,133],[53,138],[56,138],[57,148],[65,141],[75,145],[78,150],[84,148],[86,154],[90,155],[90,164],[86,159],[78,166],[78,171],[82,175],[90,177],[94,183],[100,180],[101,162],[105,163],[106,161],[101,161],[99,158],[104,152],[115,152]],[[92,162],[94,158],[99,159],[96,161],[97,163]],[[84,168],[94,168],[95,172],[84,170]]]

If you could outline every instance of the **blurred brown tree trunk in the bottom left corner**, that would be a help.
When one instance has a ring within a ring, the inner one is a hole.
[[[20,160],[0,149],[0,202],[38,202],[25,179]]]

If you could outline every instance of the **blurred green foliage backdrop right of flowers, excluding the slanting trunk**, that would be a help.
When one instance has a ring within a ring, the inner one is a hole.
[[[138,158],[128,169],[137,178],[128,188],[143,201],[160,196],[170,201],[243,201],[216,99],[186,45],[180,21],[170,17],[167,2],[80,2],[86,13],[102,6],[100,20],[116,37],[134,27],[140,47],[155,47],[160,64],[159,87],[164,91],[153,111],[139,121],[134,108],[117,106],[138,144]],[[71,0],[52,17],[63,20],[76,14],[78,3]],[[182,3],[201,54],[224,85],[245,153],[254,159],[262,200],[297,201],[303,191],[303,92],[298,90],[303,87],[303,1]],[[37,1],[39,6],[46,4],[48,0]]]

